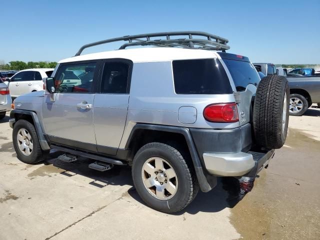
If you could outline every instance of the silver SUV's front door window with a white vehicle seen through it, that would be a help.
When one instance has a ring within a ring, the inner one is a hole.
[[[61,65],[54,77],[56,92],[92,92],[95,66],[96,62]]]

